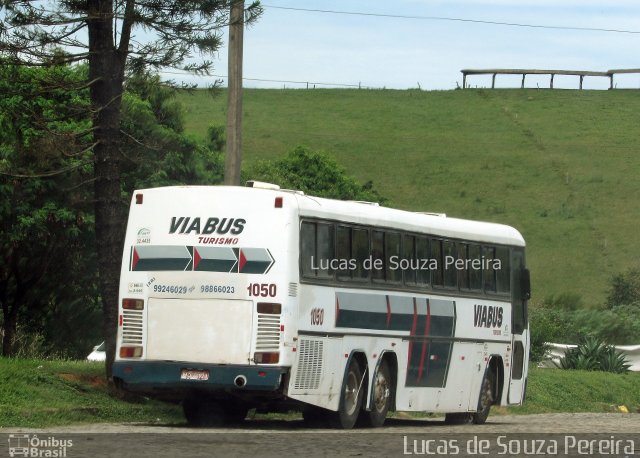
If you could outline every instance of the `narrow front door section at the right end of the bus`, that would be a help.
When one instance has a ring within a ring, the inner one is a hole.
[[[524,264],[524,250],[515,248],[511,253],[511,377],[509,404],[523,401],[529,364],[529,326],[527,301],[531,296],[529,271]]]

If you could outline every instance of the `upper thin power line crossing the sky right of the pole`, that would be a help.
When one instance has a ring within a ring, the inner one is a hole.
[[[572,26],[560,26],[560,25],[542,25],[542,24],[524,24],[518,22],[500,22],[500,21],[486,21],[481,19],[466,19],[446,16],[411,16],[401,14],[383,14],[383,13],[366,13],[362,11],[337,11],[337,10],[321,10],[312,8],[294,8],[289,6],[275,6],[262,4],[263,7],[273,8],[278,10],[298,11],[305,13],[327,13],[327,14],[346,14],[351,16],[369,16],[379,18],[393,18],[393,19],[413,19],[423,21],[453,21],[453,22],[470,22],[474,24],[485,25],[502,25],[508,27],[527,27],[534,29],[554,29],[554,30],[580,30],[585,32],[609,32],[609,33],[632,33],[640,34],[638,30],[624,30],[624,29],[605,29],[597,27],[572,27]]]

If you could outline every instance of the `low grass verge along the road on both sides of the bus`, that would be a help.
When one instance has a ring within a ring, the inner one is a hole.
[[[524,406],[494,408],[493,414],[615,412],[621,405],[640,412],[639,373],[532,367],[527,393]],[[256,414],[254,418],[283,417]],[[100,363],[0,358],[0,429],[82,423],[186,425],[179,405],[143,398],[125,402],[114,396]]]

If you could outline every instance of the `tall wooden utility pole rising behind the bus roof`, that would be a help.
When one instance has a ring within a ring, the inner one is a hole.
[[[242,46],[244,0],[231,2],[229,15],[229,71],[227,102],[227,151],[224,184],[240,185],[242,163]]]

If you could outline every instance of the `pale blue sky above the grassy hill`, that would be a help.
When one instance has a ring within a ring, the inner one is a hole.
[[[447,90],[462,85],[462,69],[640,68],[638,0],[262,0],[262,5],[263,15],[244,34],[245,87]],[[214,73],[226,76],[226,37],[214,62]],[[499,75],[496,86],[520,87],[520,82],[520,76]],[[467,84],[490,87],[491,76],[470,76]],[[615,76],[614,84],[638,89],[640,74]],[[578,85],[577,76],[554,79],[556,88]],[[526,86],[548,87],[549,76],[530,75]],[[608,78],[585,77],[585,89],[608,87]]]

